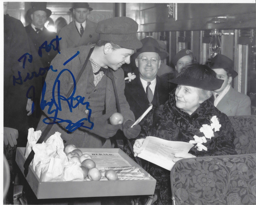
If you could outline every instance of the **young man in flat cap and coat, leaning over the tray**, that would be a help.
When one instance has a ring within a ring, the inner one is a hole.
[[[43,114],[37,127],[44,131],[47,126],[44,122],[49,122],[47,117],[56,122],[46,139],[58,131],[64,145],[100,148],[111,147],[109,138],[118,129],[129,139],[139,135],[139,125],[131,128],[135,118],[124,95],[124,72],[119,69],[122,64],[129,64],[134,49],[142,46],[137,30],[138,24],[131,18],[106,19],[97,25],[100,40],[95,47],[65,49],[56,56],[51,64],[56,72],[51,71],[45,79],[45,92],[41,97]],[[88,62],[78,81],[86,58]],[[117,110],[124,122],[111,125],[108,120]]]

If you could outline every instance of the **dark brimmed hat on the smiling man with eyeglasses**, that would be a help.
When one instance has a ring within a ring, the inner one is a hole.
[[[132,58],[135,59],[139,56],[139,54],[144,52],[155,52],[158,53],[161,60],[165,59],[168,56],[166,51],[161,50],[158,42],[152,37],[146,37],[141,40],[142,47],[137,50],[136,53],[132,54]]]

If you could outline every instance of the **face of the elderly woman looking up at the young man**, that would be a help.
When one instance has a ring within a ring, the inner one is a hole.
[[[175,91],[176,107],[191,115],[203,102],[198,95],[198,88],[178,85]]]

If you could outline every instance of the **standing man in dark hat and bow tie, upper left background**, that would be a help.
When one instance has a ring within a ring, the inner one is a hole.
[[[53,39],[56,38],[57,33],[48,31],[44,27],[46,19],[51,16],[52,12],[49,9],[46,9],[46,2],[31,2],[32,8],[27,11],[27,18],[32,22],[30,25],[25,27],[27,32],[29,47],[32,54],[32,62],[34,64],[35,72],[38,74],[40,68],[47,68],[51,65],[52,60],[57,55],[58,50],[56,49],[56,41],[53,42],[51,50],[47,50],[46,45],[43,45],[47,41],[47,45],[51,43]],[[61,41],[61,40],[60,40]],[[43,45],[43,46],[42,46]],[[40,49],[42,51],[42,56],[39,56],[39,47],[44,47]],[[48,52],[47,52],[48,51]],[[26,62],[28,64],[28,62]],[[44,81],[47,74],[47,70],[43,76],[33,78],[35,86],[35,98],[33,99],[35,105],[35,111],[28,118],[30,127],[36,128],[40,119],[40,96],[42,92],[42,82]],[[32,75],[32,74],[30,74]],[[32,102],[31,102],[32,103]]]

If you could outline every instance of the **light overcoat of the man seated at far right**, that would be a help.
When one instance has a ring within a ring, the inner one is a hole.
[[[251,115],[251,99],[230,87],[216,108],[227,116]]]

